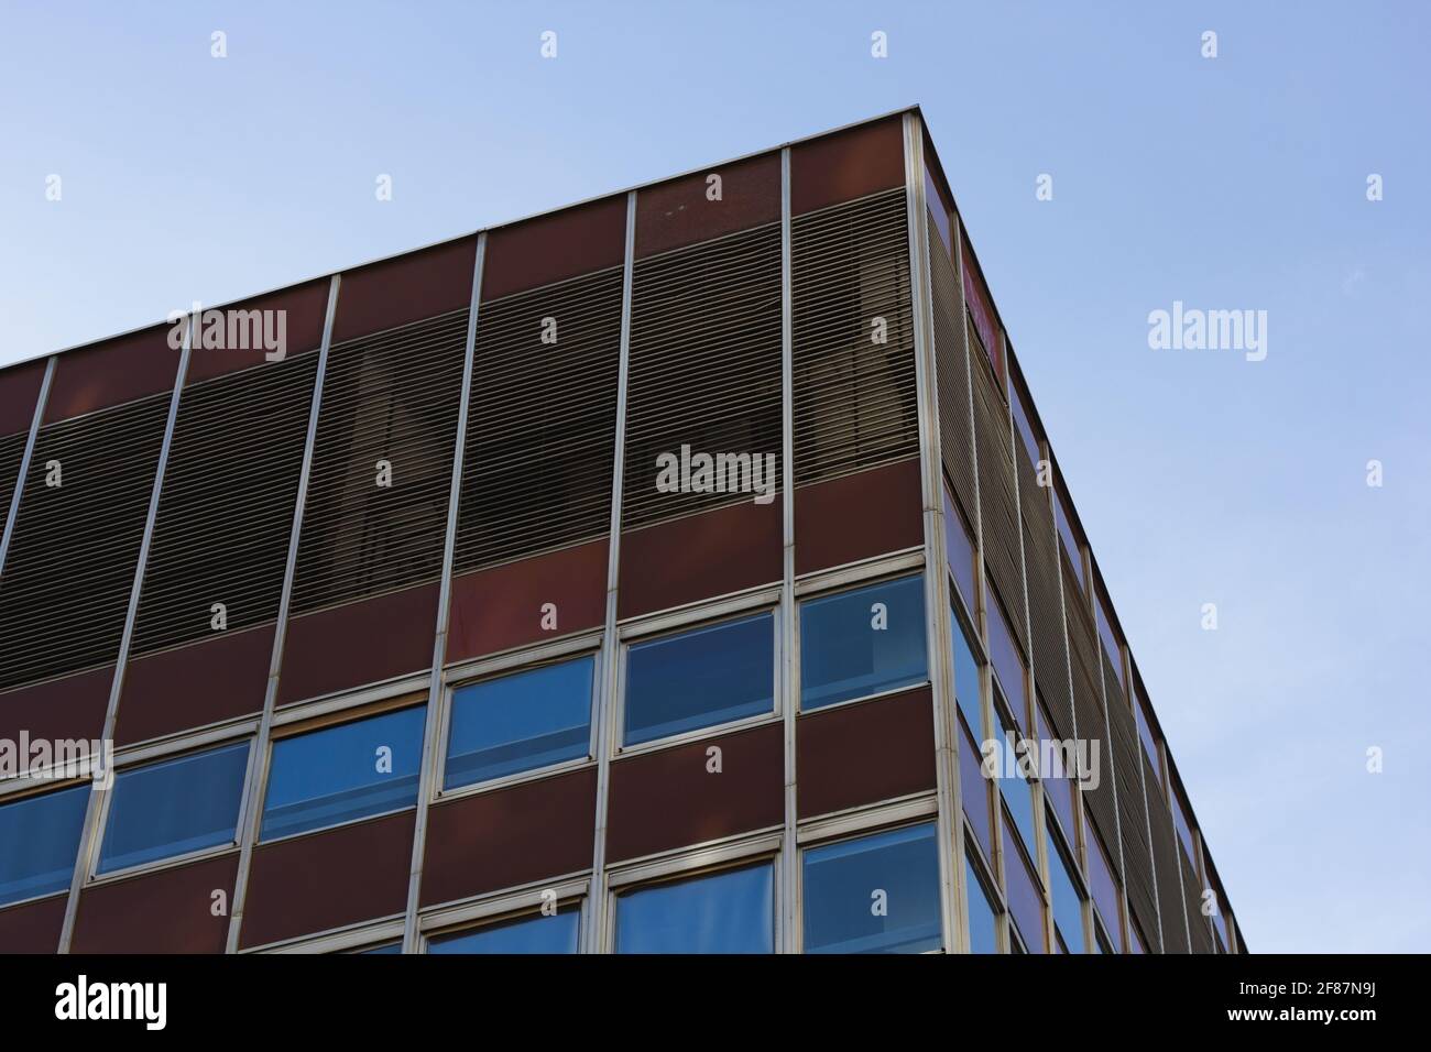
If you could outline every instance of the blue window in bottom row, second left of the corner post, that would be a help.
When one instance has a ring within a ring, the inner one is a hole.
[[[657,885],[617,899],[617,953],[774,953],[770,865]]]

